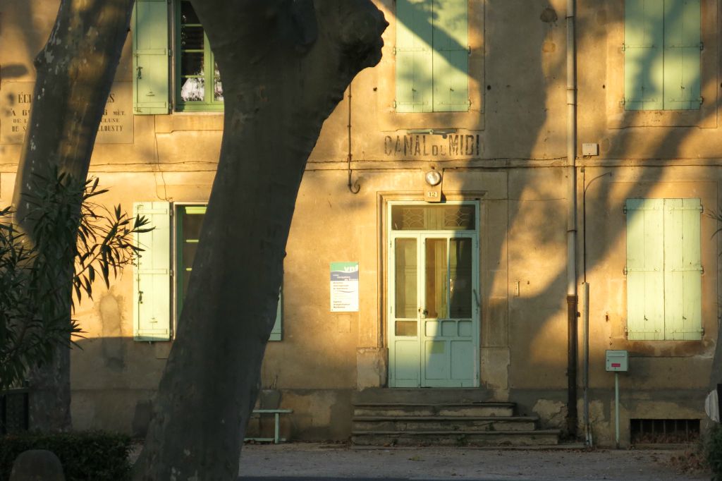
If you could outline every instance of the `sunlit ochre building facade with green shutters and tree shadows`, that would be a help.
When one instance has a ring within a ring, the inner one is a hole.
[[[142,433],[217,165],[222,83],[187,1],[136,3],[91,170],[104,202],[157,230],[139,268],[77,311],[71,389],[74,428]],[[708,215],[722,181],[719,2],[377,4],[383,58],[324,124],[287,245],[261,386],[294,411],[285,432],[345,439],[360,391],[422,388],[472,389],[567,428],[571,384],[577,435],[609,446],[606,350],[630,355],[622,444],[654,423],[704,427],[720,297]],[[0,4],[3,204],[57,6]],[[334,307],[339,262],[358,282]]]

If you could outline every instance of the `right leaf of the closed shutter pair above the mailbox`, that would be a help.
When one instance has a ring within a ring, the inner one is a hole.
[[[664,201],[665,339],[702,339],[700,199]]]

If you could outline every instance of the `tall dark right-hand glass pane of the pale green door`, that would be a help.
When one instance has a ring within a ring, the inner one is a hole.
[[[471,290],[471,239],[449,240],[449,264],[451,317],[470,318],[474,302],[474,293]]]

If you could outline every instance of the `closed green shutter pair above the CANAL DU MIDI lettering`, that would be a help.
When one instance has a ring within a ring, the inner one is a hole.
[[[469,110],[469,2],[396,1],[397,112]]]

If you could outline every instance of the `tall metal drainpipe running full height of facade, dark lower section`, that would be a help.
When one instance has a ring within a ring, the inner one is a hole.
[[[567,0],[567,433],[577,433],[577,106],[575,0]]]

